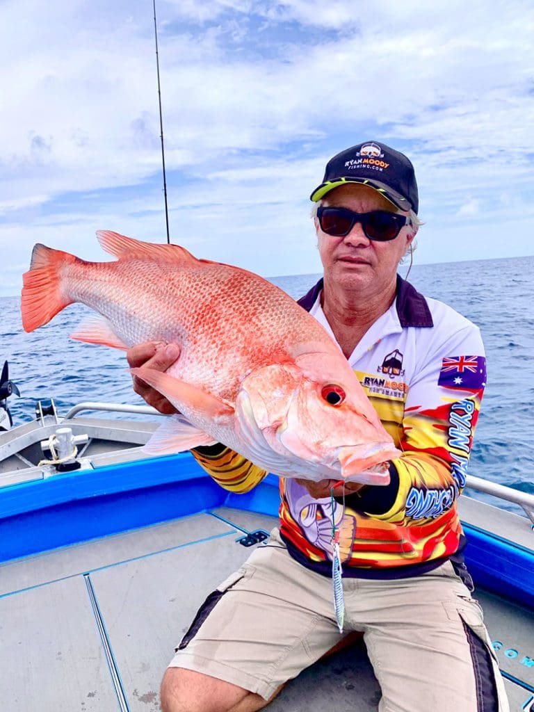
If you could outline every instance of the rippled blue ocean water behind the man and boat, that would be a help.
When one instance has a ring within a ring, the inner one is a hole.
[[[405,267],[401,273],[405,275]],[[530,493],[534,493],[533,274],[534,256],[416,265],[409,275],[419,291],[448,303],[481,328],[488,384],[468,471]],[[317,279],[318,275],[299,275],[272,281],[298,298]],[[4,359],[9,361],[9,375],[21,391],[20,398],[9,399],[14,424],[33,419],[36,402],[51,397],[60,414],[88,400],[143,404],[132,391],[123,352],[68,338],[90,313],[88,308],[71,305],[31,334],[22,329],[19,298],[0,298],[0,308],[0,367]],[[501,506],[523,513],[513,505]]]

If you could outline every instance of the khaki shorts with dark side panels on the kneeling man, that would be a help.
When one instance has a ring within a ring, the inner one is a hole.
[[[344,578],[344,634],[361,631],[381,712],[507,712],[481,608],[451,562],[397,580]],[[340,642],[332,580],[293,560],[278,530],[206,599],[169,667],[270,698]]]

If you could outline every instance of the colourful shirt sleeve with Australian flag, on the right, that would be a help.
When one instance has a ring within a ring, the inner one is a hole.
[[[388,486],[368,486],[347,506],[375,519],[420,525],[449,510],[466,484],[466,466],[486,385],[478,328],[468,323],[424,356],[404,403]]]

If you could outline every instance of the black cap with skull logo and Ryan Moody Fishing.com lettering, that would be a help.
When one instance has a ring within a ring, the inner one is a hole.
[[[400,210],[419,210],[412,162],[383,143],[365,141],[338,153],[326,164],[323,182],[310,195],[314,202],[344,183],[369,185]]]

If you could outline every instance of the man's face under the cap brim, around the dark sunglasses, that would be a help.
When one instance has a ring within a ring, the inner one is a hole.
[[[375,189],[357,183],[333,189],[325,196],[323,205],[348,208],[357,213],[386,210],[408,214],[397,210]],[[363,296],[385,293],[391,288],[399,261],[416,232],[414,226],[407,225],[394,240],[377,242],[367,238],[362,225],[356,223],[345,237],[334,237],[320,229],[318,219],[315,219],[315,230],[325,280],[342,290]]]

